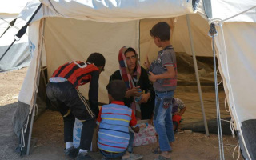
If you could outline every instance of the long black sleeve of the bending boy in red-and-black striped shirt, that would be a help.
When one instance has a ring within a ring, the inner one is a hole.
[[[98,78],[99,71],[93,71],[90,79],[90,89],[89,89],[89,103],[90,108],[93,110],[96,118],[98,117]]]

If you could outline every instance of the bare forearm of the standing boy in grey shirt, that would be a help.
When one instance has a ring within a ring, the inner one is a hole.
[[[166,79],[166,78],[174,78],[175,76],[175,70],[174,66],[166,66],[167,71],[163,74],[153,74],[150,72],[150,81],[155,82],[158,79]]]

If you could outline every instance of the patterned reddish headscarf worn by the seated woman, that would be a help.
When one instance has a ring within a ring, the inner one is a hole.
[[[130,89],[135,87],[134,82],[138,82],[138,80],[139,80],[139,78],[141,76],[141,70],[142,70],[141,66],[139,64],[139,61],[138,61],[138,54],[134,50],[135,51],[135,55],[136,55],[136,59],[137,59],[136,60],[137,61],[137,64],[136,64],[137,66],[135,67],[134,74],[130,75],[128,66],[126,64],[126,56],[125,56],[125,52],[129,48],[132,48],[132,47],[130,47],[130,46],[123,46],[119,50],[119,55],[118,55],[120,74],[121,74],[121,77],[122,77],[122,81],[126,83],[127,90],[130,90]]]

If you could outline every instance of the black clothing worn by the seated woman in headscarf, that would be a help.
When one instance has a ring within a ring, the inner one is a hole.
[[[117,79],[122,80],[119,70],[115,71],[114,74],[112,74],[110,76],[110,81],[117,80]],[[155,94],[154,94],[153,86],[150,83],[147,72],[144,68],[142,68],[142,73],[141,73],[141,76],[140,76],[138,82],[134,82],[134,84],[135,84],[135,86],[140,86],[140,89],[145,91],[145,93],[150,92],[150,98],[149,98],[148,102],[141,103],[141,105],[140,105],[142,119],[150,119],[153,114],[153,110],[154,110]],[[130,107],[131,103],[134,102],[134,97],[125,98],[124,102],[125,102],[126,106]]]

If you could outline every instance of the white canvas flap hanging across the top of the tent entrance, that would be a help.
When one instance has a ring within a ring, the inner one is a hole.
[[[65,18],[77,18],[98,22],[125,22],[142,18],[170,18],[191,14],[192,0],[111,0],[70,1],[41,0],[54,10],[45,10],[46,15],[55,14]],[[50,11],[50,12],[49,12]]]

